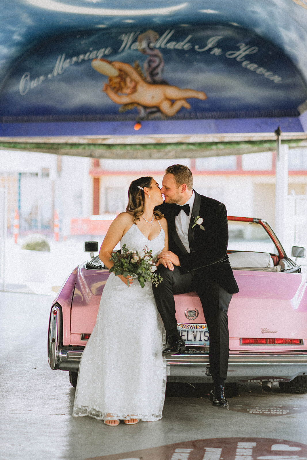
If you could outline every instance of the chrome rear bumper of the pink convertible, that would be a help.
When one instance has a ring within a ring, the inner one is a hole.
[[[57,354],[57,368],[76,371],[82,356],[81,347],[61,347]],[[307,351],[280,353],[231,352],[227,382],[247,380],[293,380],[307,374]],[[167,358],[170,382],[212,382],[207,353],[173,355]]]

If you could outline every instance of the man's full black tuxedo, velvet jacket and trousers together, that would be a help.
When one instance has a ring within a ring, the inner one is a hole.
[[[163,281],[153,287],[164,327],[177,328],[174,294],[196,291],[210,336],[209,362],[213,380],[226,379],[229,357],[228,305],[239,291],[227,256],[226,207],[220,201],[199,195],[195,199],[188,228],[190,252],[176,231],[176,204],[163,203],[159,210],[168,221],[168,248],[180,260],[174,271],[158,266]],[[202,218],[201,225],[197,219]]]

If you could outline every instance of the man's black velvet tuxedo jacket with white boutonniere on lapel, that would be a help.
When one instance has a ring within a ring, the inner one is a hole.
[[[163,203],[157,207],[168,221],[168,248],[177,254],[180,271],[187,273],[197,270],[217,282],[228,293],[237,293],[239,289],[230,266],[228,245],[228,222],[226,207],[220,201],[199,195],[195,190],[195,200],[188,230],[191,252],[182,244],[175,227],[174,207],[176,204]],[[194,225],[196,217],[203,218],[204,230]]]

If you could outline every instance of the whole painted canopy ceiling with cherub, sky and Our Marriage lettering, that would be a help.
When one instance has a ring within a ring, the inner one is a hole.
[[[306,0],[0,5],[3,142],[264,141],[278,126],[306,138]]]

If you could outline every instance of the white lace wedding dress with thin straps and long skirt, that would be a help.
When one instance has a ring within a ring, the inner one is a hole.
[[[156,256],[164,248],[164,231],[149,241],[133,224],[121,247]],[[166,360],[164,327],[151,282],[130,287],[111,273],[103,290],[96,324],[83,351],[73,415],[99,420],[162,418]]]

